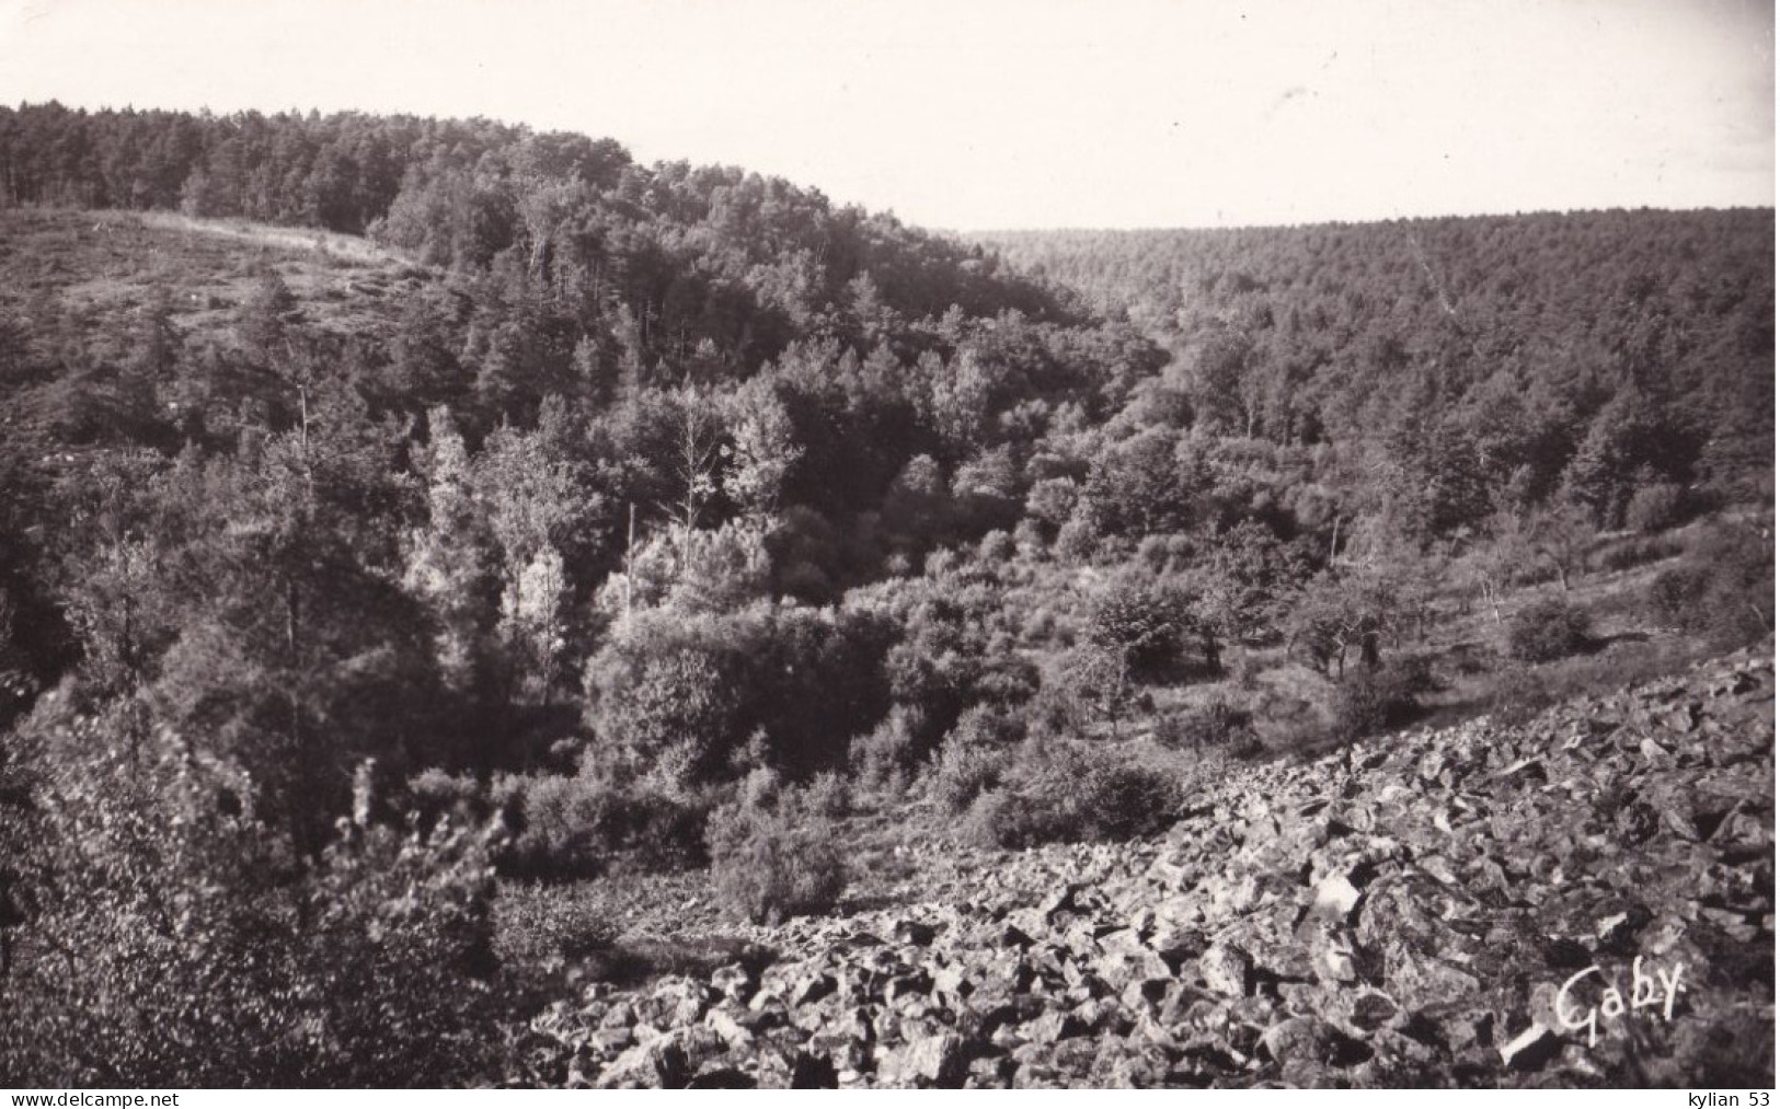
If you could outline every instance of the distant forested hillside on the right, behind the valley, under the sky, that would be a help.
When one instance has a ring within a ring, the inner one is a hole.
[[[1456,438],[1533,500],[1598,452],[1771,495],[1771,210],[975,240],[1166,344],[1194,418],[1223,434],[1408,436],[1424,452]],[[1593,486],[1618,522],[1629,490]]]

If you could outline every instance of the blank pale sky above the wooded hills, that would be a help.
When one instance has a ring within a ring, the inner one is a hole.
[[[958,228],[1775,203],[1757,0],[0,0],[0,103],[486,116]]]

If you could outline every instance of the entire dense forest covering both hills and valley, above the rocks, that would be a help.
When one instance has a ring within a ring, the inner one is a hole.
[[[1757,639],[1773,235],[967,244],[488,121],[0,110],[0,1079],[477,1081],[518,883],[1132,835],[1191,790],[1134,739],[1390,726],[1602,570]]]

